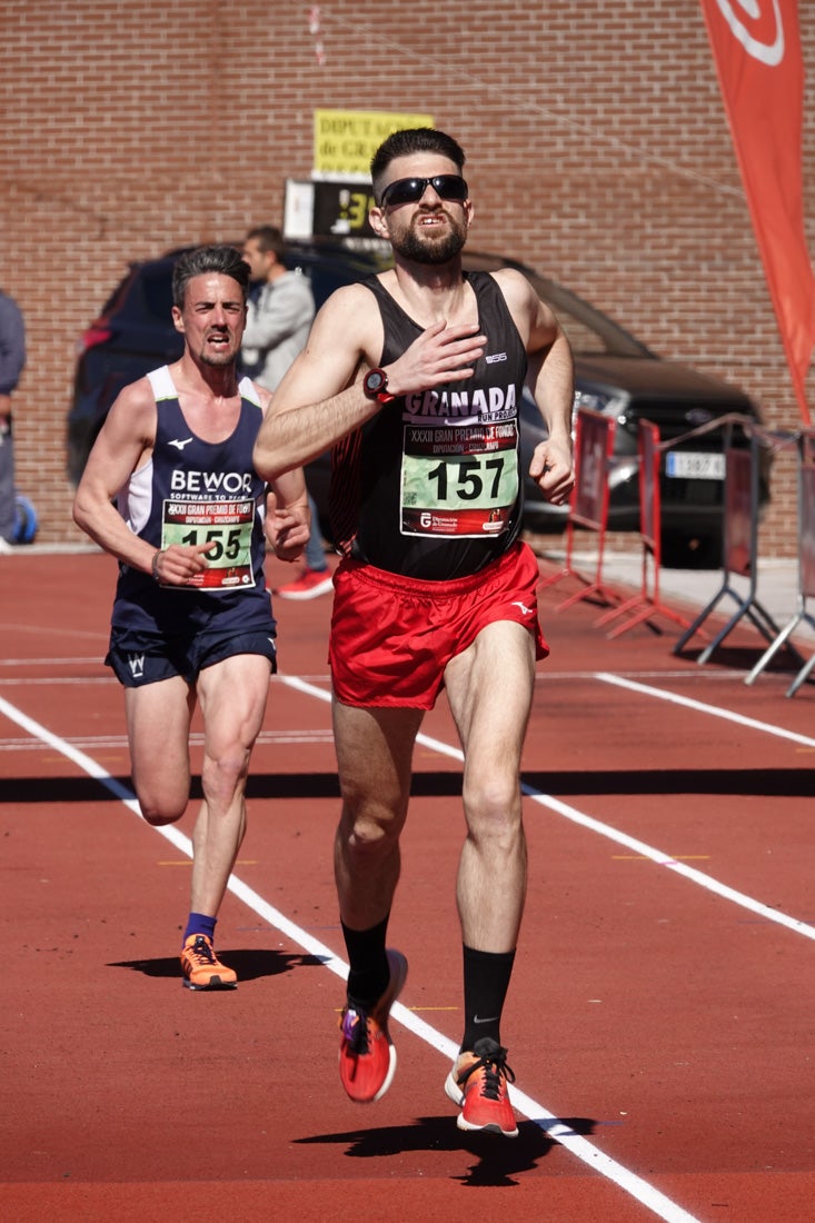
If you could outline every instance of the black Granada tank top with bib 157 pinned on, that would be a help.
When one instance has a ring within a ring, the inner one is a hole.
[[[465,274],[478,306],[485,353],[466,382],[385,404],[333,454],[332,528],[345,555],[427,581],[475,574],[520,531],[519,407],[526,352],[503,294],[485,272]],[[378,278],[394,362],[422,333]]]

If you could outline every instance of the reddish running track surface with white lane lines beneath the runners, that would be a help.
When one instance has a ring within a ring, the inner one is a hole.
[[[673,624],[609,642],[602,608],[556,612],[568,582],[542,592],[510,1142],[461,1134],[442,1090],[461,1027],[445,703],[416,750],[392,921],[399,1069],[359,1108],[335,1070],[330,599],[277,605],[219,923],[241,985],[208,996],[176,959],[196,805],[168,835],[135,808],[100,663],[113,583],[95,553],[0,560],[4,1223],[811,1217],[815,687],[787,700],[783,660],[745,686],[753,630],[699,667],[672,656]]]

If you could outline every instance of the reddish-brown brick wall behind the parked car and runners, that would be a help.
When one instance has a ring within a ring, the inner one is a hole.
[[[815,0],[804,209],[815,249]],[[280,223],[316,108],[425,111],[469,153],[472,245],[513,254],[656,351],[799,415],[698,0],[6,0],[0,283],[22,306],[18,484],[70,542],[65,416],[77,336],[128,259]],[[792,554],[782,457],[762,553]]]

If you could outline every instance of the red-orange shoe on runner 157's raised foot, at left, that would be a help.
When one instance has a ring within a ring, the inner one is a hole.
[[[390,1008],[408,977],[408,960],[388,949],[390,981],[370,1011],[346,1007],[340,1019],[340,1081],[357,1104],[382,1099],[396,1070],[396,1051],[388,1032]]]

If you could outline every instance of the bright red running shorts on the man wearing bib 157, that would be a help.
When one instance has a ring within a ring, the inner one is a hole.
[[[334,695],[359,708],[432,709],[450,658],[482,629],[513,620],[549,647],[537,619],[540,574],[532,549],[515,543],[477,574],[425,582],[343,560],[334,575],[328,647]]]

